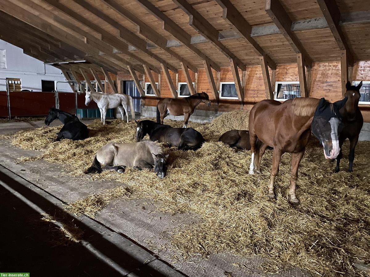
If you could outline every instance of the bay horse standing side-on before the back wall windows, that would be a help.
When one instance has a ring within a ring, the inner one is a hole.
[[[174,116],[184,116],[184,126],[188,126],[189,117],[194,113],[195,107],[201,102],[211,106],[208,94],[205,92],[195,93],[194,95],[182,99],[164,98],[157,104],[157,123],[163,124],[163,119],[172,114]]]

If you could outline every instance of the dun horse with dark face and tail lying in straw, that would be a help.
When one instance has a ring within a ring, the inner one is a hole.
[[[126,167],[142,170],[154,166],[154,172],[159,178],[163,178],[167,171],[167,158],[168,155],[163,154],[162,148],[149,140],[137,143],[110,142],[98,150],[85,174],[101,173],[103,170],[123,173]]]

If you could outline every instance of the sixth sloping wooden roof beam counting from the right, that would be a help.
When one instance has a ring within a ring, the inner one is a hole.
[[[141,34],[147,40],[151,41],[153,44],[157,45],[159,48],[166,51],[172,57],[178,59],[178,61],[183,62],[186,65],[188,65],[188,67],[191,68],[192,71],[194,71],[194,72],[198,71],[196,66],[192,65],[188,61],[185,61],[181,57],[181,55],[177,54],[176,52],[172,51],[171,49],[169,49],[167,47],[167,39],[165,37],[158,34],[155,30],[150,28],[143,21],[139,20],[139,18],[137,16],[130,13],[128,10],[126,10],[124,7],[122,7],[120,4],[118,4],[114,0],[102,0],[102,1],[104,1],[104,3],[107,4],[110,8],[112,8],[115,12],[117,12],[118,14],[120,14],[121,16],[126,18],[127,20],[131,21],[131,23],[137,25],[139,27],[139,34]],[[121,37],[124,36],[124,34],[120,34],[120,35],[121,35]],[[176,69],[176,71],[177,71],[177,69]]]

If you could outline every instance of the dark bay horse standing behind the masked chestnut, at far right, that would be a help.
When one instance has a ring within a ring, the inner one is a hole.
[[[359,141],[359,134],[364,124],[364,119],[362,117],[361,111],[359,109],[360,100],[360,88],[362,86],[362,81],[358,86],[351,86],[350,82],[346,84],[346,94],[345,97],[348,98],[346,105],[340,109],[340,114],[343,118],[344,128],[339,134],[339,147],[340,152],[337,157],[337,166],[335,172],[339,172],[340,159],[342,158],[342,145],[346,138],[350,141],[349,146],[349,167],[348,172],[352,172],[352,165],[354,160],[354,148],[356,147],[357,141]]]

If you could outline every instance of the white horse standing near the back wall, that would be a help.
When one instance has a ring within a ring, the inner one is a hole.
[[[132,119],[135,119],[134,101],[132,100],[132,97],[127,94],[123,93],[105,94],[100,92],[86,91],[85,105],[86,106],[89,105],[89,103],[92,100],[94,100],[98,104],[101,122],[103,123],[103,125],[105,124],[105,116],[107,114],[107,110],[117,107],[118,109],[120,109],[122,120],[123,120],[123,109],[125,110],[128,123],[128,105],[130,105],[131,117]]]

